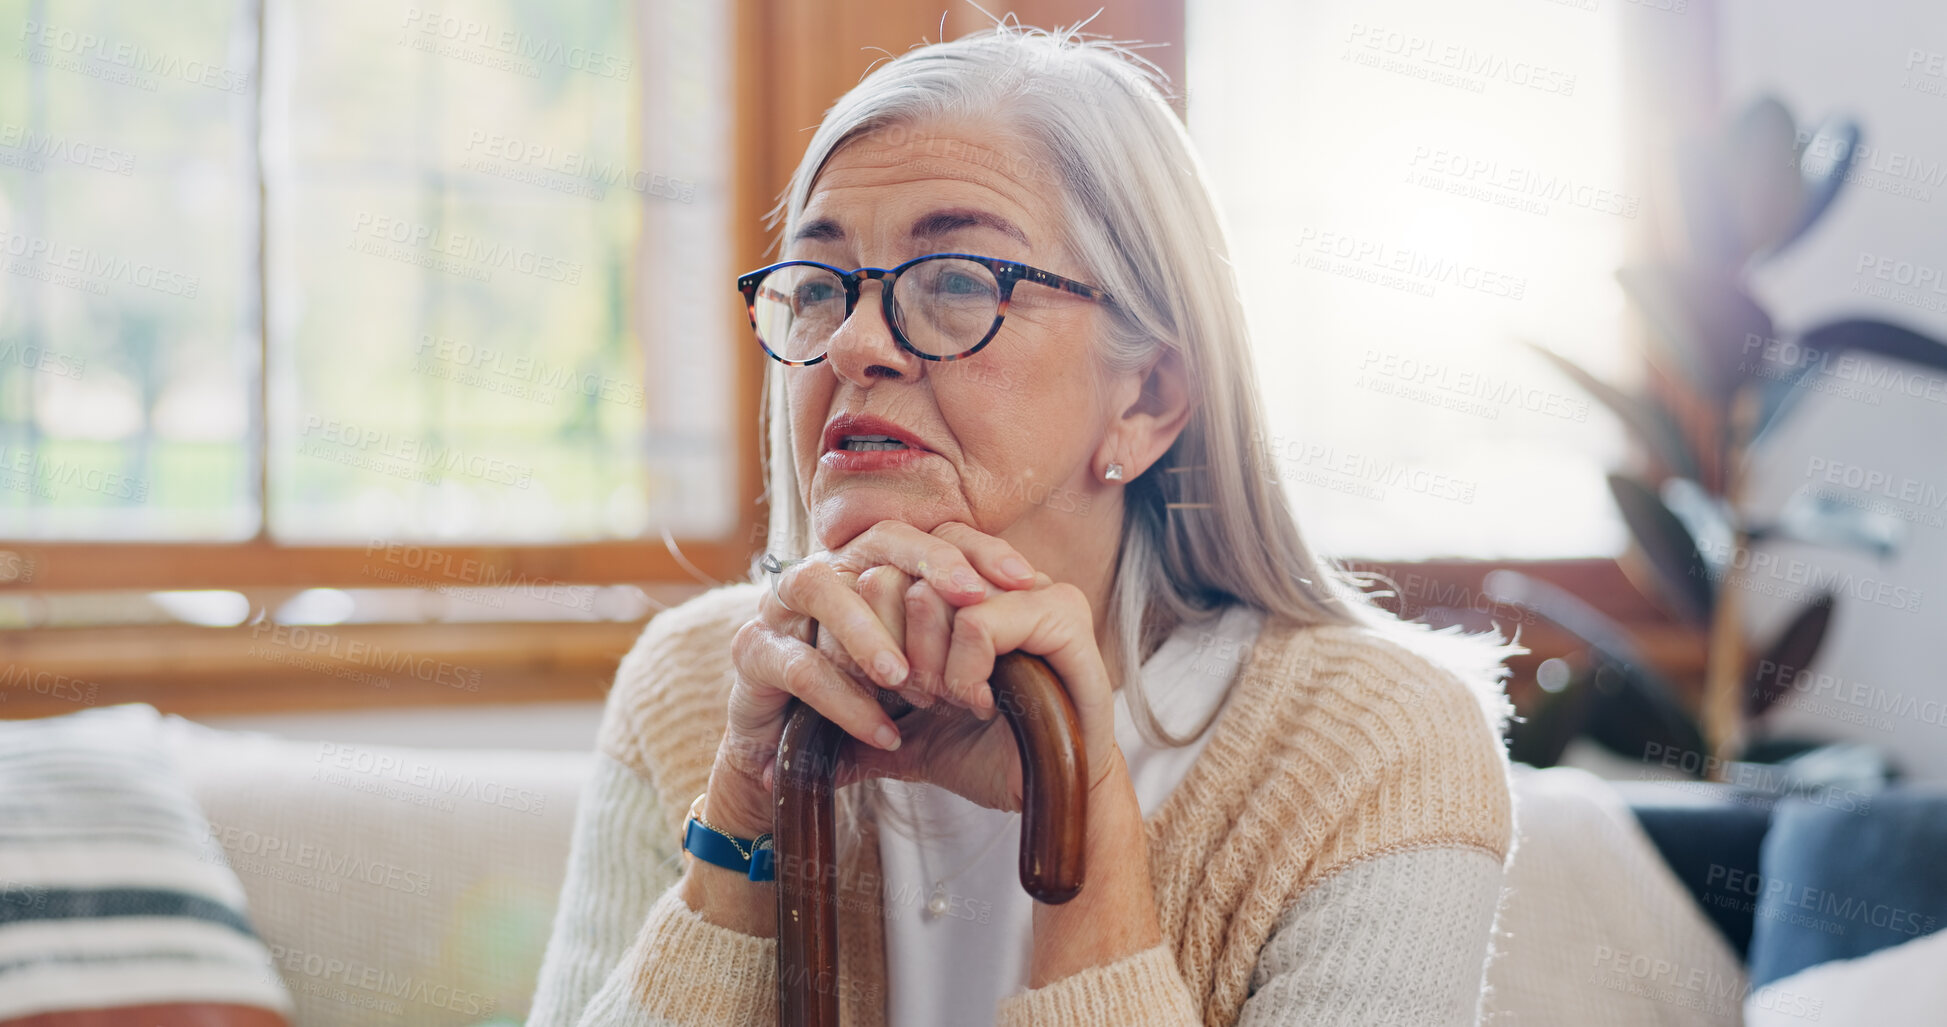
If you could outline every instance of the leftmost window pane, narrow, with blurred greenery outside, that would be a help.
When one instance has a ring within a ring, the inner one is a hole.
[[[0,538],[255,532],[238,12],[0,0]]]

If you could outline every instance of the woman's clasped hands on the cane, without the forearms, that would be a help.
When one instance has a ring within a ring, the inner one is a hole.
[[[923,532],[882,520],[789,565],[738,631],[718,762],[746,778],[750,787],[736,791],[769,795],[785,713],[798,698],[849,735],[841,781],[929,781],[989,809],[1020,809],[1020,756],[987,684],[995,659],[1014,649],[1044,657],[1067,686],[1094,791],[1121,758],[1114,688],[1083,590],[970,524]],[[913,709],[894,719],[874,690]],[[716,795],[711,805],[720,805]]]

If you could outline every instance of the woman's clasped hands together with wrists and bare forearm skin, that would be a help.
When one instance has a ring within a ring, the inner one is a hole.
[[[1061,678],[1088,756],[1086,885],[1065,904],[1036,902],[1028,986],[1157,945],[1147,830],[1116,744],[1116,692],[1088,596],[970,524],[921,532],[882,520],[792,563],[765,590],[732,641],[736,680],[705,793],[709,822],[742,838],[771,830],[771,774],[792,698],[847,733],[839,783],[927,781],[1018,811],[1020,754],[987,684],[995,659],[1016,649]],[[876,690],[913,709],[894,719]],[[689,908],[744,933],[775,933],[775,906],[742,875],[703,873],[683,877]]]

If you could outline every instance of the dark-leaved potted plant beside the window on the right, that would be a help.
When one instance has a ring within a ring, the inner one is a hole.
[[[1612,472],[1610,493],[1630,530],[1622,567],[1706,647],[1700,709],[1672,674],[1651,665],[1610,618],[1577,596],[1495,571],[1486,589],[1532,610],[1581,643],[1573,672],[1544,680],[1548,698],[1511,737],[1515,758],[1554,764],[1589,735],[1643,758],[1651,746],[1698,754],[1684,770],[1711,770],[1752,756],[1750,725],[1811,666],[1840,596],[1824,592],[1768,639],[1745,633],[1752,557],[1780,540],[1863,550],[1889,557],[1902,524],[1891,516],[1799,489],[1782,511],[1748,509],[1746,479],[1766,442],[1836,355],[1873,355],[1947,370],[1947,347],[1887,322],[1844,320],[1780,335],[1746,288],[1748,275],[1797,244],[1832,207],[1859,148],[1852,121],[1799,131],[1764,97],[1721,131],[1678,152],[1676,183],[1684,251],[1616,273],[1643,314],[1647,380],[1624,390],[1534,343],[1530,349],[1575,380],[1626,427],[1637,470]],[[1560,668],[1558,668],[1560,670]]]

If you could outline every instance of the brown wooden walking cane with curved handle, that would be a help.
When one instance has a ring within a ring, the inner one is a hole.
[[[1061,678],[1032,653],[993,666],[993,704],[1020,748],[1020,887],[1059,904],[1083,891],[1088,760]],[[894,717],[909,705],[890,692]],[[839,920],[833,774],[845,733],[796,704],[777,742],[771,778],[777,842],[777,1019],[783,1027],[839,1027]]]

